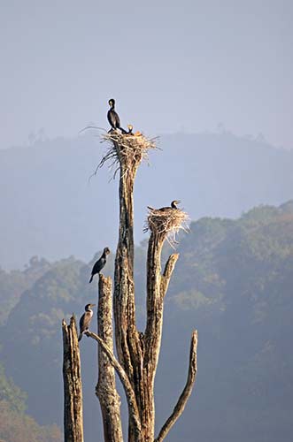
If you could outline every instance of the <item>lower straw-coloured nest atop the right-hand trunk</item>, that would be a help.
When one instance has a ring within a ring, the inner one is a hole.
[[[187,225],[189,216],[181,209],[165,208],[165,210],[149,209],[148,219],[143,232],[157,232],[167,233],[167,241],[173,248],[178,241],[176,240],[176,234],[183,230],[189,232],[189,226]]]

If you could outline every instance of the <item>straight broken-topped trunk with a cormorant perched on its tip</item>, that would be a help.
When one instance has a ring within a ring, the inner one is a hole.
[[[112,279],[100,273],[98,283],[97,331],[113,352]],[[104,442],[123,442],[120,395],[116,390],[115,371],[109,357],[98,346],[98,380],[96,396],[99,399],[104,426]]]

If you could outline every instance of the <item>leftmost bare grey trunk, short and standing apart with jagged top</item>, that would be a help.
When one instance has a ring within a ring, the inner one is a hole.
[[[64,439],[83,442],[81,359],[75,317],[62,322],[64,379]]]

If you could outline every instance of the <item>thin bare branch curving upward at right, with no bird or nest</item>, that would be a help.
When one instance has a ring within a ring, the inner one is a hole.
[[[181,396],[173,409],[172,415],[166,420],[161,431],[158,433],[158,438],[155,442],[162,442],[166,438],[167,433],[173,427],[173,424],[177,421],[180,415],[183,413],[185,405],[189,400],[189,396],[192,392],[192,387],[196,381],[197,377],[197,330],[193,331],[190,344],[190,354],[189,354],[189,374],[187,378],[186,385],[181,392]]]

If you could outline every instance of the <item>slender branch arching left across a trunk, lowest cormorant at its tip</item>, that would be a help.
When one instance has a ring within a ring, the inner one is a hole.
[[[120,377],[120,381],[123,385],[127,397],[129,418],[131,419],[135,430],[135,440],[137,440],[137,442],[143,442],[142,426],[137,408],[135,392],[127,377],[127,373],[120,365],[120,362],[117,361],[111,349],[105,344],[104,340],[101,339],[100,336],[96,335],[96,333],[94,333],[93,331],[86,331],[85,334],[89,336],[89,338],[95,339],[96,342],[103,348],[104,353],[107,354],[109,361],[112,363],[112,366],[114,367],[118,376]]]

